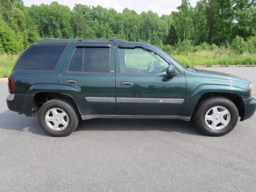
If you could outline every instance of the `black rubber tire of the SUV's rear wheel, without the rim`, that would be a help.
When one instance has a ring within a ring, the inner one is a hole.
[[[46,114],[49,110],[53,108],[59,108],[66,112],[66,114],[68,115],[69,122],[65,129],[56,131],[51,129],[47,125],[47,122],[45,120]],[[45,102],[39,109],[38,123],[41,126],[42,130],[44,130],[48,135],[54,137],[66,137],[76,129],[79,123],[79,118],[77,110],[74,108],[72,103],[61,99],[51,99]]]

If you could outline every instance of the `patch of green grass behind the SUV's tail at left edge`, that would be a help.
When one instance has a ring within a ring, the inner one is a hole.
[[[0,78],[8,77],[18,55],[0,54]]]

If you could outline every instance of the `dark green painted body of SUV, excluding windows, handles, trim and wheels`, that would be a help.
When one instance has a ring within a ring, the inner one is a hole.
[[[55,45],[56,42],[40,42]],[[111,45],[111,73],[67,73],[66,69],[76,45]],[[65,41],[67,45],[54,72],[12,71],[15,97],[7,101],[10,110],[31,116],[33,97],[37,93],[59,92],[71,96],[80,114],[84,115],[176,115],[191,117],[200,97],[206,93],[232,93],[244,103],[244,117],[253,115],[256,100],[249,95],[250,82],[246,79],[209,71],[190,71],[155,46],[138,42]],[[32,45],[33,46],[33,45]],[[118,46],[151,50],[174,65],[178,75],[127,75],[119,73]],[[76,80],[68,85],[66,80]],[[133,82],[133,87],[122,87],[120,82]],[[85,97],[162,98],[184,99],[183,103],[115,103],[88,102]]]

